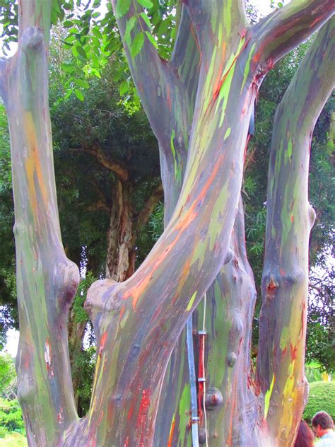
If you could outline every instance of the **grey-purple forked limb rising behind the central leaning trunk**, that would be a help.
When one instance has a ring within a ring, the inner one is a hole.
[[[114,11],[116,3],[116,0],[112,1]],[[170,191],[170,195],[165,195],[167,221],[182,186],[199,74],[199,52],[193,35],[189,33],[189,17],[184,9],[176,45],[180,48],[187,44],[187,54],[192,54],[192,57],[186,60],[184,51],[181,57],[172,57],[171,63],[160,58],[146,35],[139,54],[135,58],[131,57],[125,36],[127,22],[136,17],[130,38],[149,31],[139,16],[143,12],[139,4],[136,10],[132,5],[125,16],[117,18],[131,74],[160,147],[163,187],[165,191]],[[192,76],[189,76],[191,72]]]

